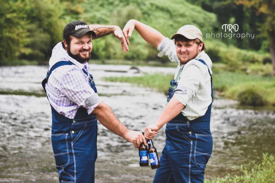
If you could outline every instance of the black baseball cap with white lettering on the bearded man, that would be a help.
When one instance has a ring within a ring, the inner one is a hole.
[[[92,36],[96,36],[95,32],[90,30],[87,23],[82,21],[73,21],[68,23],[63,30],[63,39],[68,39],[70,36],[80,38],[90,32]]]

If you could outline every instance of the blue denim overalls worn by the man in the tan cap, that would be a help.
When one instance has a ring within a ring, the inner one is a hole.
[[[198,61],[206,65],[203,60]],[[211,76],[209,69],[208,72]],[[177,81],[170,81],[167,102],[172,98],[177,86]],[[213,100],[212,76],[211,98]],[[211,106],[212,102],[204,116],[195,120],[188,120],[180,113],[167,123],[166,144],[160,157],[160,168],[156,170],[153,183],[204,182],[204,169],[213,146],[210,132]]]

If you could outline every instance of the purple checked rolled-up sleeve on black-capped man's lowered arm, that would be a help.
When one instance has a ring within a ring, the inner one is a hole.
[[[66,72],[61,82],[62,92],[68,99],[87,109],[88,114],[100,103],[99,96],[90,87],[83,72],[73,68]],[[68,102],[68,101],[65,101]]]

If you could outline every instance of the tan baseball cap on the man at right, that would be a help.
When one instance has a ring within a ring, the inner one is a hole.
[[[200,29],[194,25],[182,26],[181,28],[179,28],[177,34],[174,34],[171,39],[174,39],[176,35],[183,35],[185,38],[188,39],[198,38],[200,41],[203,41]]]

